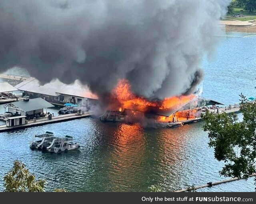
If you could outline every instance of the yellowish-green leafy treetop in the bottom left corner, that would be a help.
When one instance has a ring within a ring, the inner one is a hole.
[[[44,192],[45,180],[35,180],[25,164],[16,160],[10,170],[4,176],[5,192]]]

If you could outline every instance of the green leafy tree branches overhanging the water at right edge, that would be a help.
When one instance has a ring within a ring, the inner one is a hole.
[[[225,163],[220,171],[225,177],[248,178],[256,172],[256,103],[248,102],[242,94],[240,97],[242,122],[236,114],[206,112],[202,115],[209,146],[214,148],[215,158]]]

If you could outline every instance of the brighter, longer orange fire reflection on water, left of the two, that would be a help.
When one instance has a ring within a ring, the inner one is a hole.
[[[146,160],[146,136],[143,128],[140,124],[120,124],[114,132],[112,144],[114,148],[110,152],[109,179],[123,181],[129,178],[127,185],[135,184],[137,181],[134,179],[143,175],[143,163]],[[112,191],[116,190],[118,183],[113,185]]]

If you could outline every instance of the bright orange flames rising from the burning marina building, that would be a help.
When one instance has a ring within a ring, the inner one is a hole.
[[[174,122],[177,120],[188,120],[196,116],[196,110],[181,110],[183,106],[191,101],[196,102],[196,95],[189,96],[173,96],[164,100],[150,101],[146,98],[136,96],[131,91],[131,85],[128,80],[119,80],[116,88],[112,92],[114,98],[120,103],[117,110],[121,112],[124,109],[139,111],[143,113],[152,113],[160,115],[156,119],[160,122]],[[121,107],[120,107],[121,106]],[[119,108],[120,107],[120,108]],[[190,107],[188,107],[190,109]],[[171,112],[170,114],[162,114],[161,112]],[[162,116],[161,116],[162,115]],[[169,116],[170,115],[170,116]],[[166,117],[167,116],[167,117]]]

